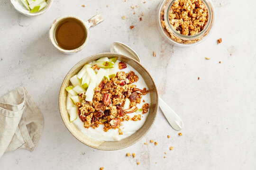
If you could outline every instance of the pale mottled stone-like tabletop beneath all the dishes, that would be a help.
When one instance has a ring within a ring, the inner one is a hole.
[[[142,1],[54,0],[45,14],[31,18],[16,12],[9,0],[0,0],[0,96],[25,85],[45,118],[36,150],[5,153],[0,170],[255,169],[256,11],[252,7],[256,2],[214,0],[213,34],[199,45],[178,48],[165,43],[157,32],[160,0]],[[135,5],[138,8],[130,8]],[[139,21],[142,12],[145,15]],[[88,19],[96,13],[105,21],[91,29],[83,51],[65,55],[55,50],[48,29],[56,17],[73,14]],[[127,19],[122,20],[123,15]],[[135,29],[130,30],[131,25]],[[223,40],[219,45],[218,38]],[[92,149],[65,128],[58,110],[64,76],[79,60],[109,51],[115,41],[128,44],[140,55],[162,98],[183,119],[183,136],[169,126],[161,111],[142,140],[119,151]],[[158,145],[143,144],[150,139]],[[127,152],[136,157],[126,157]]]

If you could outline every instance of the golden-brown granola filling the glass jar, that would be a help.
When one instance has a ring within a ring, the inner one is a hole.
[[[195,40],[182,40],[171,33],[167,28],[164,11],[161,13],[161,25],[165,33],[175,42],[179,43],[194,43],[201,38]],[[207,25],[209,12],[202,0],[175,0],[169,11],[169,21],[174,30],[183,35],[199,34]]]

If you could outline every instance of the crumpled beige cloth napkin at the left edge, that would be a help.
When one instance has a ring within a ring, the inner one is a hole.
[[[0,98],[0,157],[25,148],[33,151],[44,129],[44,118],[24,86]]]

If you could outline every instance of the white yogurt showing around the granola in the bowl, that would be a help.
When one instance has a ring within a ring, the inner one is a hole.
[[[120,62],[120,61],[118,60],[117,62]],[[144,79],[142,78],[142,76],[130,65],[127,64],[127,68],[119,70],[119,71],[124,71],[126,73],[133,71],[139,77],[139,80],[133,84],[137,85],[137,88],[139,88],[139,89],[143,89],[146,87],[146,89],[148,90],[148,87],[147,87]],[[143,100],[145,102],[142,102]],[[146,95],[142,95],[141,103],[137,104],[137,108],[138,109],[142,108],[143,104],[145,104],[145,103],[148,103],[150,105],[150,93],[147,93]],[[134,115],[141,114],[141,120],[137,120],[137,121],[124,120],[123,122],[121,122],[123,125],[120,126],[120,129],[122,130],[123,135],[119,135],[118,129],[113,129],[113,128],[109,129],[108,132],[105,132],[103,130],[104,125],[100,125],[99,127],[95,128],[95,129],[92,127],[85,128],[85,127],[83,127],[83,122],[81,119],[79,119],[79,117],[77,117],[77,119],[74,120],[73,123],[84,134],[86,134],[87,136],[90,136],[93,139],[101,140],[101,141],[119,141],[121,139],[124,139],[124,138],[134,134],[140,127],[142,127],[146,121],[148,112],[146,114],[142,114],[142,112],[141,113],[135,113],[135,112],[128,113],[127,115],[130,116],[130,118],[132,118]]]

